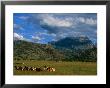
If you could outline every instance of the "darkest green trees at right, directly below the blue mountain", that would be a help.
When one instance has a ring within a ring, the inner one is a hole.
[[[97,61],[97,48],[91,49],[74,49],[63,51],[66,61],[84,61],[96,62]]]

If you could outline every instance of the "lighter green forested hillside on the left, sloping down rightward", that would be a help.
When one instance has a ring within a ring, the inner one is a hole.
[[[23,40],[14,41],[14,59],[20,60],[57,60],[64,55],[49,44],[32,43]]]

